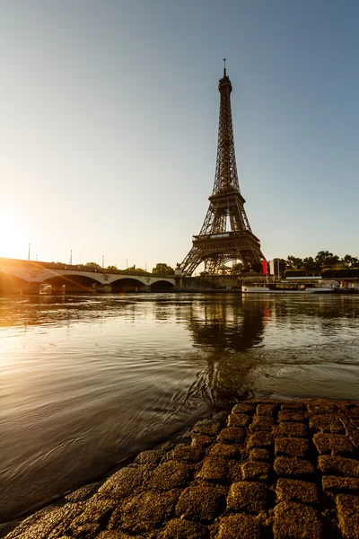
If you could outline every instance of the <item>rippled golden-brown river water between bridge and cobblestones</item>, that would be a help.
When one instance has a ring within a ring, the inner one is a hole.
[[[0,521],[250,396],[359,399],[359,296],[0,297]]]

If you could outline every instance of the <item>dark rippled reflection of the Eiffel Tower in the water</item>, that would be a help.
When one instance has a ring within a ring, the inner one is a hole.
[[[232,402],[256,389],[252,373],[261,358],[264,315],[263,301],[245,306],[227,295],[190,305],[188,328],[196,348],[206,351],[197,384],[212,403]]]

